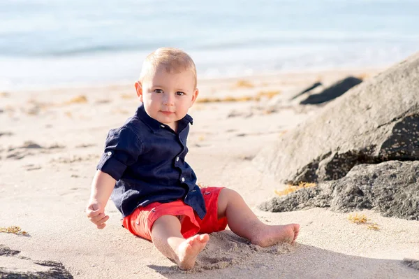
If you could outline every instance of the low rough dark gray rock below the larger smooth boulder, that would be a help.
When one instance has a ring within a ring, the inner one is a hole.
[[[419,161],[358,165],[344,178],[278,196],[259,206],[271,212],[313,207],[343,212],[373,209],[387,217],[419,220]]]

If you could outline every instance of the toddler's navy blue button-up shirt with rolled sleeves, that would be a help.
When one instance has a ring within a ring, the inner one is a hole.
[[[203,195],[184,160],[189,123],[192,117],[186,115],[176,133],[140,106],[122,127],[109,131],[97,169],[117,180],[111,199],[124,217],[138,206],[181,199],[203,219]]]

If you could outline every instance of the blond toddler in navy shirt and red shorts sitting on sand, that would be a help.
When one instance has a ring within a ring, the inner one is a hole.
[[[142,104],[122,127],[111,129],[91,185],[87,217],[98,229],[109,219],[109,197],[123,226],[151,240],[180,269],[192,269],[208,234],[226,229],[262,247],[294,243],[300,225],[263,224],[237,192],[200,188],[185,162],[196,101],[196,67],[182,50],[159,48],[135,83]]]

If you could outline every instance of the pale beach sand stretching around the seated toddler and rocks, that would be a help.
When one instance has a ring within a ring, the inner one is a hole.
[[[84,211],[108,130],[138,106],[133,85],[0,92],[0,227],[27,232],[0,233],[0,277],[42,273],[52,268],[39,261],[52,261],[74,278],[419,278],[406,264],[419,259],[417,221],[363,211],[378,227],[371,229],[350,222],[348,213],[325,208],[288,213],[256,208],[285,185],[260,173],[251,159],[323,107],[301,106],[304,96],[292,97],[319,80],[330,85],[379,71],[199,81],[186,156],[198,183],[235,189],[263,222],[296,222],[301,230],[295,245],[271,248],[251,245],[228,229],[212,234],[196,268],[187,272],[123,229],[112,201],[103,230]]]

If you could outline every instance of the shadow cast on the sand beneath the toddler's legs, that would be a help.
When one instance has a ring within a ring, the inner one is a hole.
[[[311,245],[260,248],[231,231],[212,234],[191,271],[149,265],[170,279],[185,278],[419,278],[403,261],[345,255]]]

